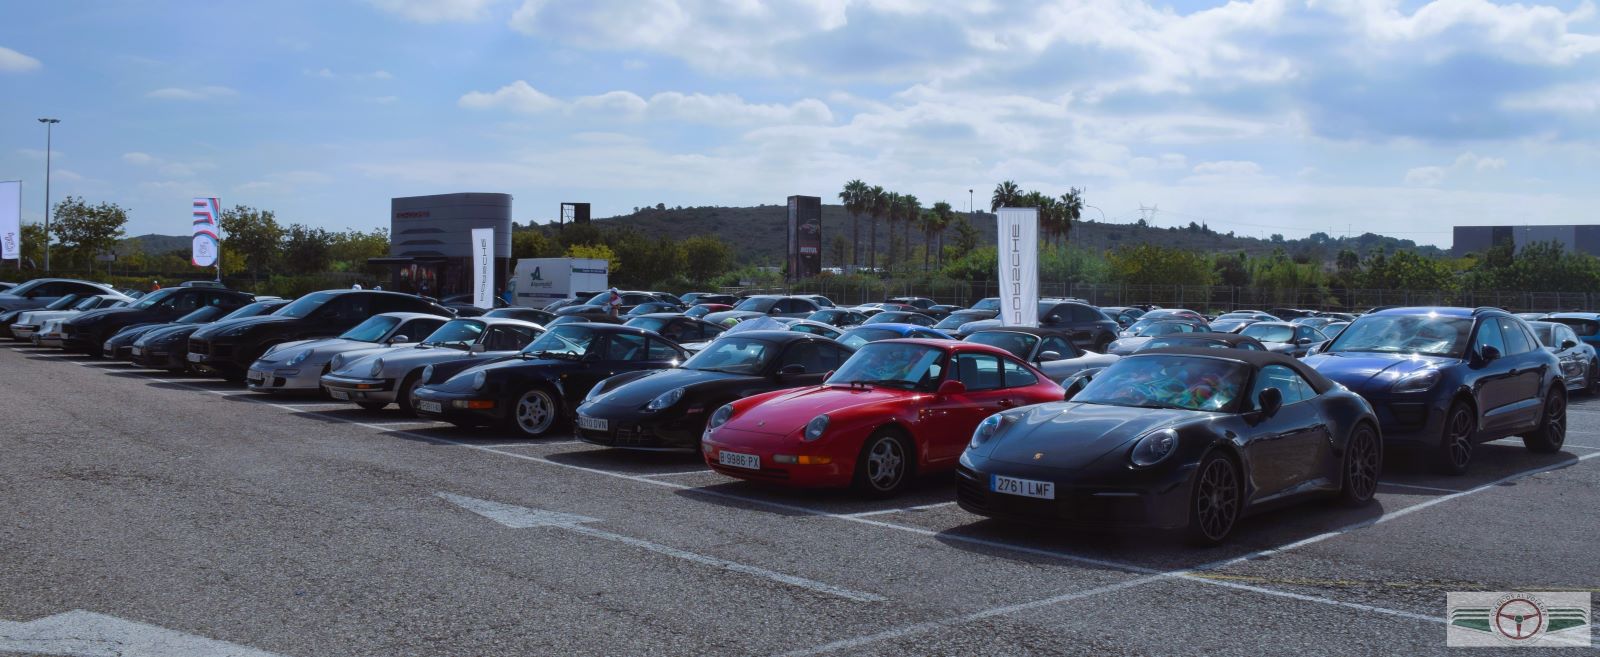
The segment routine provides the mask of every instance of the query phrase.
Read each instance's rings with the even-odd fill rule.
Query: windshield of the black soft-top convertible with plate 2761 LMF
[[[1227,411],[1248,382],[1250,368],[1237,361],[1165,353],[1131,356],[1106,368],[1072,401]]]

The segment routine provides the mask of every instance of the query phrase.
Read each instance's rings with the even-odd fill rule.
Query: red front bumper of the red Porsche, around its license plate
[[[830,440],[837,441],[837,438]],[[760,468],[741,468],[722,464],[722,452],[734,454],[754,454],[760,457]],[[832,454],[837,451],[838,454]],[[845,488],[850,486],[851,478],[856,472],[856,452],[861,451],[858,444],[854,449],[830,449],[830,452],[822,452],[816,446],[798,444],[797,441],[768,433],[746,433],[734,432],[730,428],[717,428],[707,432],[701,438],[701,456],[706,459],[706,465],[717,470],[722,475],[734,476],[749,481],[766,481],[782,486],[795,488]],[[848,452],[848,456],[845,454]],[[822,465],[802,465],[802,464],[779,464],[778,456],[808,456],[808,457],[827,457],[829,462]]]

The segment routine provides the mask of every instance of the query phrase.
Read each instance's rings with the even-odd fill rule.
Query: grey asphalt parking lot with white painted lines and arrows
[[[0,652],[1421,655],[1446,591],[1600,582],[1586,396],[1560,454],[1392,459],[1373,505],[1200,550],[986,521],[950,476],[864,500],[59,350],[0,371]],[[72,612],[102,623],[51,633]]]

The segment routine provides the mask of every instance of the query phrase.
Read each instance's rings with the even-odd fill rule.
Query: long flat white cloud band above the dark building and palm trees
[[[501,86],[493,93],[470,91],[461,96],[456,104],[474,110],[502,109],[520,113],[565,110],[581,117],[648,117],[712,125],[830,123],[834,120],[834,113],[827,109],[827,104],[813,98],[786,106],[746,102],[734,94],[664,91],[645,99],[632,91],[608,91],[595,96],[579,96],[568,102],[534,90],[523,80]]]

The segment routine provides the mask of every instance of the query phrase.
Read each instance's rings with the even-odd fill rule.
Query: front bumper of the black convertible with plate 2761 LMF
[[[1194,467],[1131,486],[1075,481],[1059,472],[1010,464],[1003,470],[1005,476],[1054,483],[1054,499],[994,492],[994,473],[963,464],[955,468],[955,504],[981,516],[1080,529],[1181,529],[1189,524]]]

